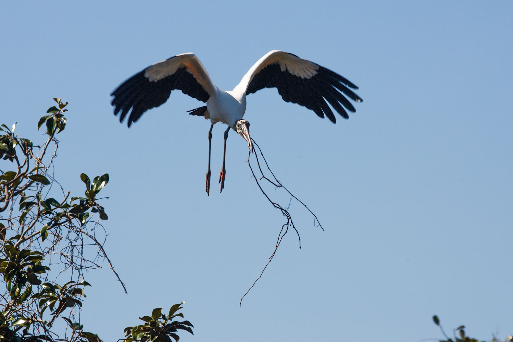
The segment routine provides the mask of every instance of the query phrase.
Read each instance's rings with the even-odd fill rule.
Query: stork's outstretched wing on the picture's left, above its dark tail
[[[167,101],[171,90],[207,102],[215,86],[207,70],[193,53],[184,53],[155,63],[128,78],[110,95],[114,115],[121,112],[120,122],[128,114],[128,127],[139,120],[148,109]]]

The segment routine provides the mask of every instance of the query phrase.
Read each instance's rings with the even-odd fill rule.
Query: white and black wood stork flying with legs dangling
[[[183,53],[136,73],[110,95],[113,96],[111,105],[114,106],[114,115],[121,113],[120,122],[123,122],[131,109],[128,127],[137,122],[148,109],[166,102],[171,91],[175,89],[206,102],[206,106],[192,109],[188,113],[204,116],[211,123],[208,131],[208,171],[205,186],[208,195],[211,174],[210,146],[215,123],[228,125],[224,133],[223,167],[219,174],[221,192],[226,176],[226,139],[230,128],[246,139],[249,152],[253,152],[249,123],[243,119],[246,95],[263,88],[277,88],[286,102],[305,106],[320,117],[326,115],[335,123],[336,118],[327,103],[347,119],[349,116],[344,107],[351,112],[356,110],[344,95],[357,103],[362,101],[348,87],[358,89],[346,78],[329,69],[294,54],[273,50],[260,58],[232,91],[223,91],[213,84],[207,70],[193,53]]]

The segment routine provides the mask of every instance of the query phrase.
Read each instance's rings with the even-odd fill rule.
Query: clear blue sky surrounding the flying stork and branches
[[[108,269],[84,329],[105,341],[155,307],[185,300],[185,341],[420,341],[461,324],[483,339],[513,333],[513,2],[2,2],[0,114],[37,137],[52,97],[70,103],[56,177],[110,174]],[[281,182],[318,215],[283,224],[230,134],[179,91],[128,129],[109,93],[151,63],[194,52],[231,90],[269,50],[332,69],[364,102],[337,124],[285,103],[247,98],[244,118]],[[34,139],[35,140],[35,139]],[[5,162],[0,162],[5,163]],[[268,189],[283,205],[289,198]],[[106,322],[115,329],[107,328]]]

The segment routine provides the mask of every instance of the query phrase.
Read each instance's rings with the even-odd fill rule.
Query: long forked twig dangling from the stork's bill
[[[267,265],[269,265],[269,263],[271,262],[271,260],[274,258],[274,255],[276,254],[276,251],[278,250],[278,247],[280,246],[280,244],[282,243],[282,239],[283,237],[285,236],[285,234],[287,234],[288,232],[288,229],[290,227],[292,227],[295,231],[295,233],[298,235],[298,239],[299,239],[299,248],[301,248],[301,236],[299,236],[299,232],[298,230],[295,228],[294,226],[294,222],[292,221],[292,216],[290,215],[290,213],[288,212],[288,209],[290,207],[290,204],[292,202],[292,198],[295,198],[299,203],[301,203],[312,215],[313,215],[313,225],[314,226],[319,226],[321,227],[322,230],[324,230],[324,228],[322,227],[321,223],[319,222],[319,219],[317,218],[317,215],[315,215],[311,210],[310,208],[308,208],[307,205],[305,205],[303,202],[301,202],[301,200],[294,196],[290,191],[287,190],[287,188],[285,188],[283,186],[283,184],[276,178],[276,176],[274,176],[274,173],[271,171],[271,169],[269,168],[269,164],[267,164],[267,160],[265,159],[264,157],[264,154],[262,153],[262,150],[260,149],[260,146],[258,146],[257,143],[255,143],[255,140],[251,139],[251,141],[253,142],[253,145],[256,146],[260,152],[260,155],[262,156],[262,158],[264,159],[264,162],[265,162],[265,166],[267,167],[267,170],[269,170],[269,172],[271,173],[272,177],[274,178],[274,182],[269,179],[268,177],[266,177],[264,175],[264,172],[262,171],[262,167],[260,166],[260,162],[259,162],[259,159],[258,159],[258,155],[257,155],[257,152],[255,151],[255,158],[257,158],[257,165],[258,165],[258,168],[260,170],[260,174],[262,175],[260,178],[257,178],[257,176],[255,175],[254,171],[253,171],[253,168],[251,167],[251,163],[249,161],[249,158],[251,156],[251,154],[248,153],[248,166],[249,166],[249,169],[251,170],[251,174],[253,175],[253,178],[255,179],[255,182],[257,182],[257,185],[258,187],[260,188],[260,191],[262,191],[262,193],[264,194],[264,196],[267,198],[267,200],[272,204],[272,206],[274,208],[277,208],[279,209],[283,216],[285,216],[287,218],[287,222],[285,224],[283,224],[282,228],[280,229],[280,233],[278,234],[278,239],[276,241],[276,245],[274,246],[274,251],[272,252],[271,256],[269,256],[269,260],[267,261],[267,264],[265,264],[264,266],[264,269],[262,270],[262,272],[260,273],[259,277],[257,279],[255,279],[255,281],[253,281],[253,284],[251,285],[251,287],[246,291],[246,293],[244,293],[244,295],[242,296],[241,298],[241,301],[239,302],[239,309],[241,308],[241,305],[242,305],[242,299],[244,299],[244,297],[248,294],[248,292],[253,288],[253,286],[257,283],[257,281],[262,277],[262,274],[264,274],[264,271],[265,269],[267,268]],[[277,188],[283,188],[285,189],[285,191],[288,192],[288,194],[291,196],[290,198],[290,202],[287,206],[287,209],[283,208],[281,205],[279,205],[278,203],[275,203],[273,202],[269,196],[265,193],[264,189],[262,189],[262,186],[260,185],[259,183],[259,179],[262,180],[262,179],[265,179],[267,180],[267,182],[269,182],[270,184],[274,185],[275,187]],[[285,230],[285,231],[284,231]],[[283,232],[283,234],[282,234]]]

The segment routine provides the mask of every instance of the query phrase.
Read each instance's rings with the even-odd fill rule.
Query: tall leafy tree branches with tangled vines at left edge
[[[82,307],[84,286],[90,286],[83,271],[99,267],[85,255],[84,239],[97,247],[94,255],[101,252],[106,257],[102,244],[86,226],[96,227],[108,218],[97,203],[97,194],[107,185],[109,175],[94,177],[91,182],[82,174],[84,197],[71,197],[68,202],[69,191],[63,191],[59,200],[49,196],[56,183],[49,173],[58,148],[55,135],[66,127],[64,108],[68,104],[60,98],[54,100],[57,105],[37,124],[38,129],[46,127],[47,139],[41,146],[18,137],[16,124],[11,129],[0,126],[0,157],[12,163],[9,170],[0,169],[0,274],[5,284],[5,292],[0,293],[0,341],[100,341],[97,335],[84,332],[74,317]],[[91,220],[94,213],[98,213],[97,222]],[[53,264],[62,264],[64,269],[49,280],[53,255],[59,259]],[[59,285],[59,275],[71,279]],[[57,317],[68,323],[68,338],[59,338],[51,330]]]

